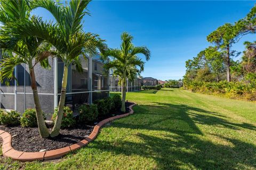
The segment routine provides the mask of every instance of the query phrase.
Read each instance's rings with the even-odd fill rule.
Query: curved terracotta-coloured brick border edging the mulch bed
[[[98,135],[100,128],[106,123],[111,122],[115,119],[119,119],[119,118],[133,114],[132,107],[135,105],[136,103],[133,103],[131,106],[129,106],[130,112],[128,112],[127,114],[117,115],[117,116],[102,120],[100,123],[94,126],[92,133],[88,137],[86,137],[84,140],[65,148],[54,149],[54,150],[49,150],[44,152],[17,151],[12,148],[12,145],[11,145],[12,136],[10,135],[10,133],[0,130],[0,137],[2,137],[3,139],[3,145],[2,145],[3,156],[5,158],[10,157],[14,160],[20,160],[20,161],[33,161],[33,160],[42,161],[42,160],[51,160],[51,159],[60,158],[66,155],[68,152],[81,148],[87,145],[89,142],[93,141]]]

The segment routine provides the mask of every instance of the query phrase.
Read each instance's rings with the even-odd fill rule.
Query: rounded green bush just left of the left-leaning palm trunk
[[[26,109],[20,118],[20,124],[23,127],[37,127],[36,110],[31,108]]]

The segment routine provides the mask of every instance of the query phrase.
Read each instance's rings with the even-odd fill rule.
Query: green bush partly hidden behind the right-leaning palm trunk
[[[52,115],[53,123],[55,123],[57,114],[58,114],[58,108],[55,108],[54,113]],[[63,109],[63,117],[62,117],[61,127],[62,128],[73,127],[75,124],[76,124],[76,120],[74,119],[73,111],[69,107],[65,106]]]

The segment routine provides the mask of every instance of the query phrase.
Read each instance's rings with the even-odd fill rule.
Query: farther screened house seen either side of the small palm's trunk
[[[111,71],[110,71],[111,72]],[[119,77],[109,75],[110,78],[110,92],[121,92],[122,86],[119,86]],[[141,78],[137,77],[135,80],[126,80],[126,92],[140,91],[141,90]]]

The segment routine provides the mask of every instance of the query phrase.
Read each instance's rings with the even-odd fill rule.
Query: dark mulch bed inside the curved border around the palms
[[[129,112],[129,106],[131,106],[131,102],[126,102],[126,112]],[[124,112],[116,112],[113,115],[101,117],[98,122],[108,117],[112,117],[115,115],[125,114]],[[95,123],[97,124],[97,123]],[[46,124],[51,131],[52,125]],[[60,135],[43,139],[40,137],[37,127],[21,127],[21,126],[3,126],[0,125],[0,129],[10,133],[12,137],[12,147],[18,151],[25,152],[38,152],[40,150],[45,149],[53,150],[59,149],[63,147],[67,147],[74,143],[77,143],[81,140],[84,140],[87,136],[89,136],[93,130],[95,125],[93,123],[88,125],[83,125],[79,127],[65,128],[60,130]],[[1,144],[1,143],[0,143]]]

